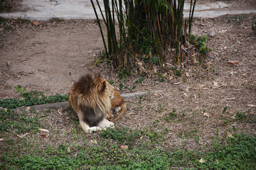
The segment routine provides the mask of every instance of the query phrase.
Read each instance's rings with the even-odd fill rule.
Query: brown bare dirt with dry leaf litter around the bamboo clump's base
[[[68,94],[70,85],[82,74],[100,72],[105,79],[114,81],[121,94],[130,91],[119,90],[119,84],[135,85],[133,91],[163,91],[127,100],[127,114],[118,125],[146,128],[164,120],[175,109],[174,122],[158,123],[169,129],[169,141],[175,144],[184,145],[182,136],[195,127],[202,142],[209,141],[216,128],[225,135],[234,126],[238,132],[255,134],[255,123],[232,121],[238,112],[248,116],[256,114],[253,17],[256,14],[196,18],[193,34],[208,35],[208,47],[212,48],[206,57],[208,64],[186,65],[182,77],[169,71],[164,82],[151,74],[144,77],[142,84],[136,84],[137,74],[124,80],[105,63],[95,66],[97,55],[103,51],[95,21],[40,21],[40,26],[32,26],[13,20],[9,26],[14,30],[0,26],[0,99],[20,97],[14,89],[17,85],[26,91],[43,91],[47,95]],[[228,60],[239,63],[230,65]],[[54,114],[58,117],[57,112]],[[186,145],[193,147],[195,142],[189,140]]]

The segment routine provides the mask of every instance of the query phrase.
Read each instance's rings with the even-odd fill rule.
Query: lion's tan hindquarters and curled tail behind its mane
[[[115,109],[115,108],[121,108],[121,112],[119,113],[119,115],[117,115],[116,118],[114,118],[113,120],[111,120],[113,123],[116,122],[117,120],[119,120],[119,118],[122,118],[122,116],[124,115],[124,113],[126,113],[127,111],[127,105],[124,102],[124,98],[122,98],[122,96],[117,92],[114,91],[114,98],[111,98],[111,109]],[[113,117],[113,115],[109,115],[109,117]]]

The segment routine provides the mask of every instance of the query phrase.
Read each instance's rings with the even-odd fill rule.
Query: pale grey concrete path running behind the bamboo
[[[103,6],[102,1],[100,1],[100,5]],[[185,17],[188,17],[189,7],[190,4],[185,4],[184,6]],[[215,18],[226,14],[256,13],[256,10],[228,11],[227,8],[228,4],[224,2],[200,4],[196,6],[194,16]],[[99,11],[98,8],[97,11]],[[0,16],[5,18],[21,17],[31,20],[48,20],[53,17],[95,19],[95,13],[90,0],[23,0],[19,12],[0,13]]]

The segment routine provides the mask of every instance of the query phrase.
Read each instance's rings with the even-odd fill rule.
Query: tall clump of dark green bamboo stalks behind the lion
[[[114,68],[131,72],[135,63],[143,60],[163,67],[169,49],[175,49],[172,62],[180,64],[181,45],[191,33],[196,0],[191,0],[188,21],[183,18],[185,0],[91,0],[100,27],[107,61]],[[107,28],[107,42],[95,3]],[[105,13],[103,12],[105,11]],[[118,23],[116,27],[116,24]],[[187,26],[188,25],[188,26]],[[116,30],[117,28],[117,30]],[[187,33],[188,29],[188,33]],[[117,34],[119,33],[119,34]]]

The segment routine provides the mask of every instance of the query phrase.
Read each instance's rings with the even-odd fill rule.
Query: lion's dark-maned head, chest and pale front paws
[[[114,123],[106,119],[106,115],[112,113],[113,96],[114,87],[102,79],[100,74],[86,74],[73,84],[68,100],[78,114],[80,126],[85,133],[114,128]]]

